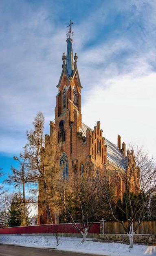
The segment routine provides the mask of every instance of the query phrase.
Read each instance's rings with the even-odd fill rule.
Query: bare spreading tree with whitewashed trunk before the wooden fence
[[[109,183],[111,181],[118,186],[121,192],[121,199],[123,200],[124,207],[117,206],[125,215],[127,225],[123,220],[116,218],[115,208],[116,200],[110,197],[108,187],[99,179],[99,186],[105,193],[108,204],[111,209],[114,220],[120,222],[129,236],[130,248],[133,247],[133,236],[138,229],[138,226],[144,220],[145,216],[149,213],[149,200],[152,193],[156,189],[156,163],[154,159],[148,157],[148,154],[143,151],[143,148],[127,151],[127,169],[126,172],[121,167],[117,171],[109,170]],[[121,182],[124,186],[124,191],[121,190]],[[120,185],[120,186],[119,186]],[[132,196],[132,195],[135,196]],[[112,207],[112,202],[115,207]],[[134,220],[137,221],[134,227]]]

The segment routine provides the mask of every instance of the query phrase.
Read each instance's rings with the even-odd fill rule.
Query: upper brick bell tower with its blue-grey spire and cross
[[[69,132],[67,132],[69,126],[74,122],[74,112],[77,112],[77,132],[81,127],[81,82],[79,79],[79,73],[77,70],[77,54],[73,56],[71,36],[74,35],[71,26],[73,22],[70,20],[67,31],[67,54],[62,56],[62,73],[57,85],[58,94],[56,96],[56,108],[55,108],[55,131],[58,130],[62,136],[62,131],[66,130],[66,136],[69,139]],[[63,139],[65,142],[66,139]]]

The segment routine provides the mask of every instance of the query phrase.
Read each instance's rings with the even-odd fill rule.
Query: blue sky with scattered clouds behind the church
[[[66,31],[74,22],[73,54],[82,121],[117,144],[143,145],[156,157],[156,1],[0,1],[0,167],[19,167],[26,130],[38,111],[45,134],[54,109]],[[3,180],[3,179],[1,179]],[[7,185],[5,185],[7,186]]]

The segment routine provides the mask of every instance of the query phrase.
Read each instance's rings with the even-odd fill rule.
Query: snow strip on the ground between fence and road
[[[103,240],[87,238],[84,243],[82,238],[58,237],[57,246],[55,236],[34,236],[34,235],[0,235],[0,243],[21,245],[29,247],[47,247],[59,250],[88,253],[90,255],[107,256],[156,256],[156,246],[134,245],[132,249],[123,243],[104,242]]]

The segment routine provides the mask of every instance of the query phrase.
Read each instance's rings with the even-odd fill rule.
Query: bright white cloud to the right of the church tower
[[[118,134],[126,144],[145,145],[155,157],[156,73],[131,78],[116,77],[108,89],[100,85],[89,92],[82,106],[83,122],[94,128],[101,122],[103,137],[117,144]]]

